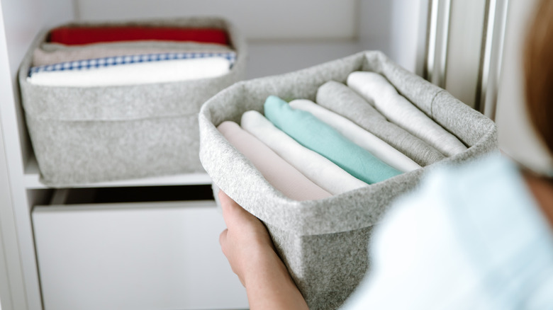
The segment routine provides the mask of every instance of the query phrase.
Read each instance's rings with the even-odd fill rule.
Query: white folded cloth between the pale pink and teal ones
[[[337,195],[367,186],[332,161],[303,147],[257,111],[245,112],[240,125],[328,193]]]

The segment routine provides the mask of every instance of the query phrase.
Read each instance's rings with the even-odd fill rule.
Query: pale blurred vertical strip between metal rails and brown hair
[[[510,0],[496,122],[499,147],[506,154],[537,171],[547,171],[553,167],[552,159],[532,129],[523,93],[523,39],[536,3],[536,0]]]

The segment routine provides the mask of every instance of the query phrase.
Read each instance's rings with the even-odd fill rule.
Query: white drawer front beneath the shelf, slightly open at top
[[[45,309],[246,309],[215,202],[33,209]]]

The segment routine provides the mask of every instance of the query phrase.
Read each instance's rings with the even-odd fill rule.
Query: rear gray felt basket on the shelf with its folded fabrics
[[[72,23],[40,33],[19,70],[51,187],[203,173],[201,104],[243,79],[245,41],[221,18]]]

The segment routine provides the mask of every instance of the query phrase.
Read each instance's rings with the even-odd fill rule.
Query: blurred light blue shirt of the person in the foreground
[[[440,168],[376,229],[342,309],[553,309],[553,239],[518,168]]]

